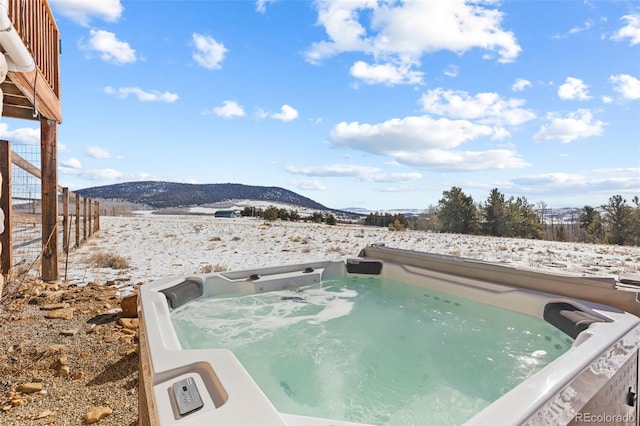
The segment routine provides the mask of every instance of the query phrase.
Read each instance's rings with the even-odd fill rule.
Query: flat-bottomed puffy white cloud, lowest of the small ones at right
[[[607,124],[600,120],[594,120],[591,111],[579,109],[561,117],[555,113],[547,114],[548,125],[542,126],[540,131],[533,136],[535,141],[559,141],[570,143],[576,139],[584,139],[592,136],[600,136]]]

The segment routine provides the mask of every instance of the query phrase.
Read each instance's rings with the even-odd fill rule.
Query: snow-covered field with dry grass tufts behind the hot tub
[[[640,247],[149,212],[103,216],[100,225],[100,232],[73,251],[66,266],[61,265],[61,276],[66,276],[69,283],[118,280],[126,286],[212,270],[339,259],[356,256],[374,243],[521,269],[640,279]],[[129,267],[116,270],[92,266],[89,258],[95,253],[122,256]]]

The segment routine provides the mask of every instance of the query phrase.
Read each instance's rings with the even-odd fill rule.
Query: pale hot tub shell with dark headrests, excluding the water
[[[469,259],[370,246],[357,257],[192,277],[140,288],[140,424],[347,425],[280,413],[234,354],[185,350],[172,309],[200,297],[316,285],[348,274],[376,274],[518,311],[575,338],[572,347],[465,424],[638,424],[640,304],[614,280],[551,275]],[[201,406],[180,414],[175,383],[190,380]],[[187,397],[187,399],[189,399]]]

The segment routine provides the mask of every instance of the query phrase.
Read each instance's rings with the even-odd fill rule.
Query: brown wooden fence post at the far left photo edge
[[[0,273],[8,275],[13,265],[13,242],[11,241],[11,144],[0,140],[0,209],[4,213],[3,230],[0,232]],[[1,280],[0,280],[1,283]],[[0,294],[2,285],[0,284]]]

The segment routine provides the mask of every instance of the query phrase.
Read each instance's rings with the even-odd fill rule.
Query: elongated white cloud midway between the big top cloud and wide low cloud
[[[503,99],[493,92],[470,95],[464,91],[443,89],[429,90],[420,98],[422,108],[431,114],[452,118],[479,120],[484,124],[517,126],[533,120],[536,115],[522,108],[522,99]]]

